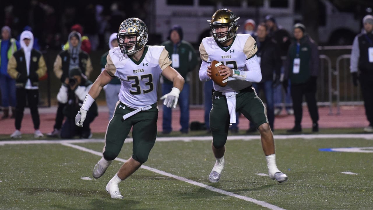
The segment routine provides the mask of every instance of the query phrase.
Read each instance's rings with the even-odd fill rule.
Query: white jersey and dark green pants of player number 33
[[[132,127],[132,157],[140,163],[147,161],[157,136],[159,78],[170,64],[164,46],[145,46],[139,61],[124,55],[119,47],[109,50],[106,70],[120,79],[121,87],[105,135],[103,156],[106,160],[117,157]]]

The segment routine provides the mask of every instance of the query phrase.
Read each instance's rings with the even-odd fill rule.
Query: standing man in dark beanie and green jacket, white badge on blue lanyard
[[[316,80],[319,75],[317,44],[305,33],[305,26],[293,27],[295,41],[290,45],[285,66],[285,78],[290,79],[295,125],[288,132],[301,132],[303,96],[312,119],[312,132],[319,131],[319,111],[316,104]]]

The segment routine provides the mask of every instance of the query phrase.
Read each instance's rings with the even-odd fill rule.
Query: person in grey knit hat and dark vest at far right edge
[[[365,114],[369,125],[365,132],[373,132],[373,16],[363,18],[364,30],[352,43],[350,72],[355,87],[360,84]]]

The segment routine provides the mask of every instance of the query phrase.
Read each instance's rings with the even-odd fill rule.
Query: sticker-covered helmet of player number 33
[[[126,55],[133,55],[144,48],[148,42],[148,28],[144,21],[138,18],[125,19],[119,26],[117,40],[120,51]],[[133,40],[124,43],[125,36],[132,36]]]

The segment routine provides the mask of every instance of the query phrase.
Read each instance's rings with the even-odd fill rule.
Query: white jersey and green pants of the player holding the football
[[[214,83],[210,129],[214,147],[222,148],[228,136],[229,123],[235,123],[236,111],[253,121],[257,127],[268,123],[266,108],[251,87],[253,82],[258,83],[261,80],[260,64],[256,56],[257,46],[251,35],[237,34],[228,47],[223,47],[213,37],[206,37],[202,40],[199,50],[202,59],[199,71],[201,81],[210,80],[206,70],[213,60],[245,75],[244,80],[229,77],[225,87]]]

